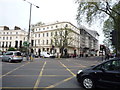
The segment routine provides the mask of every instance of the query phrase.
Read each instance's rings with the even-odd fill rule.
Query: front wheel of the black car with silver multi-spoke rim
[[[82,85],[87,90],[92,90],[92,89],[95,88],[93,80],[91,78],[89,78],[89,77],[83,78]]]

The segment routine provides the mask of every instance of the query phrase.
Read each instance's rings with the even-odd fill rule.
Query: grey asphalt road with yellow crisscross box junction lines
[[[101,58],[37,58],[33,62],[2,62],[2,89],[84,90],[76,80],[79,69],[101,62]]]

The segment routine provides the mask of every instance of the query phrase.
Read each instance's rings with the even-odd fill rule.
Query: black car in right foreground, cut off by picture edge
[[[96,87],[120,90],[120,59],[114,58],[79,70],[76,78],[80,85],[87,90]]]

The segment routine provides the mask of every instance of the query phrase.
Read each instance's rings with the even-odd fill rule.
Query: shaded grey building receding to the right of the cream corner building
[[[83,56],[95,56],[99,50],[99,34],[97,31],[89,30],[85,27],[80,28],[80,53]]]

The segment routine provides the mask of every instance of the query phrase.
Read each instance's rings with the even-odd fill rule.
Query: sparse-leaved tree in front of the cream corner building
[[[55,47],[59,48],[61,57],[68,55],[67,48],[74,41],[72,33],[73,31],[66,27],[55,31],[52,42]]]

